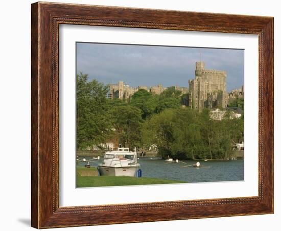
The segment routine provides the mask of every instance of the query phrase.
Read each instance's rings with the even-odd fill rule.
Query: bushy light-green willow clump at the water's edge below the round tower
[[[211,120],[208,109],[165,109],[145,121],[142,143],[145,147],[155,144],[164,158],[226,159],[233,142],[243,140],[243,125],[242,118]]]

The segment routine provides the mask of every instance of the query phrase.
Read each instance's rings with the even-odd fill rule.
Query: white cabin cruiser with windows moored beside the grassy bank
[[[135,150],[131,152],[129,148],[118,148],[105,153],[98,171],[101,176],[136,176],[139,167]]]

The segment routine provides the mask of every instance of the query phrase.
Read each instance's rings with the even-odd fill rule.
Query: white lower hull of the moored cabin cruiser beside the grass
[[[135,176],[139,167],[106,167],[99,166],[98,171],[101,176]]]

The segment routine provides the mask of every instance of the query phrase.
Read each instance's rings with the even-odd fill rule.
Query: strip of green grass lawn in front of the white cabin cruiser
[[[148,177],[131,176],[79,176],[77,175],[76,187],[104,187],[104,186],[135,186],[142,184],[186,183],[180,180],[166,180]]]

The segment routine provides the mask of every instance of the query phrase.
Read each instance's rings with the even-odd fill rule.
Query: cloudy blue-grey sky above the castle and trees
[[[243,50],[76,43],[76,72],[105,84],[123,80],[131,87],[189,87],[189,80],[195,78],[195,62],[200,60],[205,69],[227,72],[228,92],[243,85]]]

